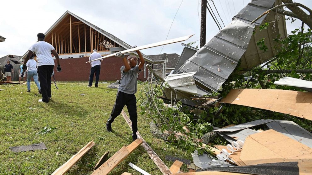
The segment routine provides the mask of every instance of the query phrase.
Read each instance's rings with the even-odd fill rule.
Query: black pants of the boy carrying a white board
[[[137,131],[137,114],[136,114],[136,96],[134,94],[127,94],[117,91],[116,101],[110,114],[107,123],[112,124],[114,119],[121,113],[124,106],[127,105],[127,109],[132,122],[132,132],[136,134]]]

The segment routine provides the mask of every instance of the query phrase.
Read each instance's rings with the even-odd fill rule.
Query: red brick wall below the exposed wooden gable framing
[[[54,66],[56,81],[88,81],[90,75],[90,63],[86,63],[89,57],[84,58],[69,58],[60,59],[60,65],[62,72],[56,71]],[[57,65],[56,60],[54,60]],[[148,64],[148,62],[146,62]],[[100,81],[116,81],[119,80],[120,67],[123,66],[123,62],[120,58],[109,57],[103,59],[101,63]],[[146,78],[144,78],[143,70],[138,76],[138,80],[145,81],[148,77],[148,69],[146,68]],[[94,75],[95,81],[95,75]]]

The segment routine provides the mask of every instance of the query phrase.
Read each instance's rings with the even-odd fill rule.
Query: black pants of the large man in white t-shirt
[[[54,65],[38,66],[38,77],[43,102],[49,102],[49,97],[51,97],[51,75],[53,69]]]

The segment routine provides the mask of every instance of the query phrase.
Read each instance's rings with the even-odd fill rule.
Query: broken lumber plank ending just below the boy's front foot
[[[106,175],[117,165],[125,160],[127,156],[131,154],[137,147],[142,144],[142,140],[136,139],[128,146],[123,146],[113,156],[111,156],[106,162],[97,168],[91,175]]]

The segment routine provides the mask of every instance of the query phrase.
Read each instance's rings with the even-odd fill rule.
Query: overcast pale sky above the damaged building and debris
[[[210,0],[208,0],[210,1]],[[224,24],[230,23],[250,0],[214,0]],[[102,1],[2,1],[0,11],[0,57],[8,54],[22,56],[36,42],[37,33],[45,33],[66,10],[115,35],[129,45],[146,45],[166,39],[172,20],[182,0],[102,0]],[[295,0],[312,8],[311,0]],[[198,4],[199,3],[199,4]],[[211,3],[211,2],[210,2]],[[195,34],[184,43],[200,37],[200,0],[183,0],[172,24],[168,39]],[[290,24],[287,32],[299,27],[299,20]],[[219,29],[207,11],[209,41]],[[142,50],[146,55],[160,54],[162,47]],[[180,43],[165,45],[161,53],[181,54]]]

